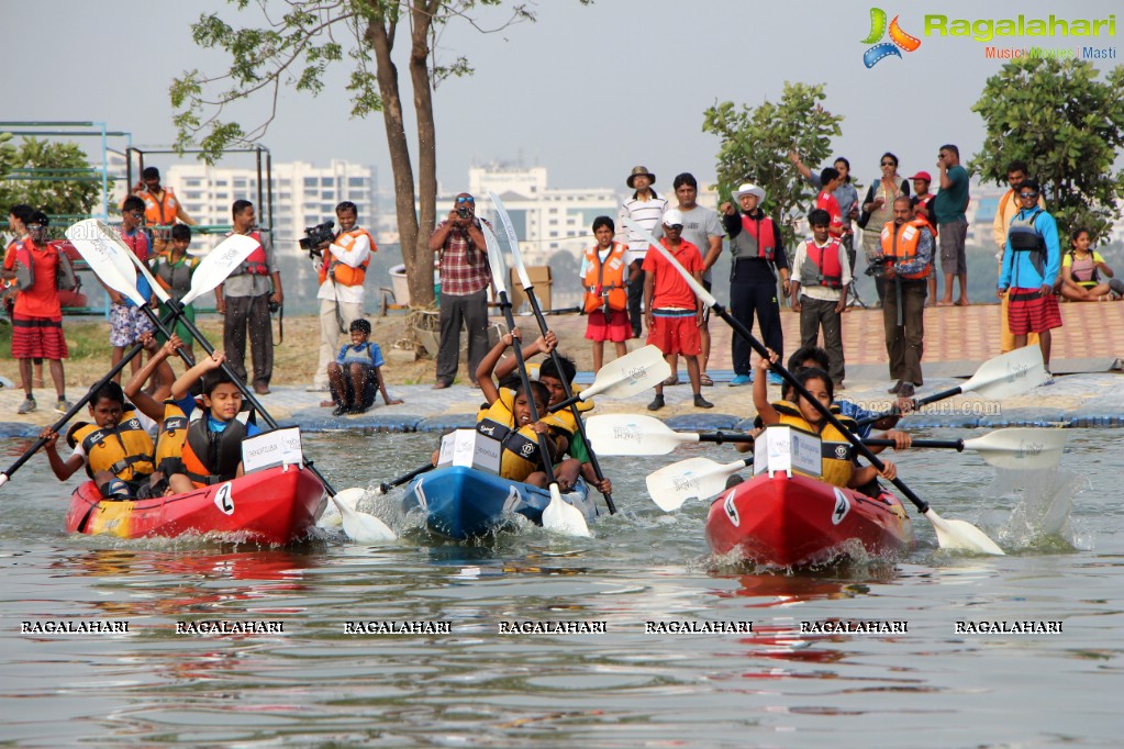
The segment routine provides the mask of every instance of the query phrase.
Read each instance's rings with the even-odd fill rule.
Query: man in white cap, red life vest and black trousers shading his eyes
[[[729,312],[746,329],[753,329],[753,317],[756,313],[761,337],[768,348],[783,350],[785,336],[780,327],[780,304],[777,301],[776,268],[780,274],[781,290],[787,296],[788,259],[785,256],[785,245],[780,228],[761,210],[765,200],[763,188],[746,182],[734,192],[734,200],[741,205],[741,211],[732,203],[724,202],[719,210],[722,222],[729,237],[729,248],[734,254],[729,268]],[[729,385],[747,385],[753,382],[750,367],[750,344],[734,336],[731,342],[734,359],[734,378]],[[780,377],[769,373],[770,382],[780,384]]]

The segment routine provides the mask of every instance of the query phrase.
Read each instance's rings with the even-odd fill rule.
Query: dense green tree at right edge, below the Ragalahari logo
[[[1045,189],[1046,207],[1063,235],[1084,226],[1095,237],[1107,236],[1124,198],[1124,170],[1113,165],[1124,147],[1122,90],[1124,66],[1098,81],[1086,61],[1007,63],[972,107],[984,118],[987,139],[971,170],[1004,184],[1007,164],[1024,161]]]

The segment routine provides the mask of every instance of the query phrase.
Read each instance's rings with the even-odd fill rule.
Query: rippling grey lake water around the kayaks
[[[406,528],[396,546],[325,531],[285,550],[65,536],[69,488],[37,457],[0,490],[0,742],[1118,747],[1120,439],[1071,430],[1061,468],[1033,475],[971,454],[901,456],[901,477],[934,510],[985,528],[1009,556],[943,552],[915,513],[907,557],[800,574],[717,564],[705,503],[665,515],[644,492],[646,473],[698,455],[732,460],[729,448],[604,459],[622,512],[598,520],[593,539],[526,529],[456,546]],[[307,437],[306,449],[342,488],[405,473],[434,442],[332,433]],[[2,463],[24,447],[9,440]],[[62,619],[125,620],[128,632],[20,631]],[[176,622],[216,619],[280,621],[283,633],[175,633]],[[800,633],[824,619],[908,627]],[[451,631],[344,631],[383,620]],[[606,632],[499,632],[555,620]],[[752,621],[753,631],[645,633],[646,621]],[[958,621],[1062,631],[957,633]]]

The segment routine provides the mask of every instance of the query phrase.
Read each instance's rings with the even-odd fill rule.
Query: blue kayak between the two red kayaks
[[[562,500],[581,510],[586,522],[597,517],[589,486],[581,479]],[[542,526],[543,510],[550,503],[549,490],[462,466],[418,476],[402,497],[407,512],[425,513],[429,530],[459,541],[502,530],[511,524],[515,514]]]

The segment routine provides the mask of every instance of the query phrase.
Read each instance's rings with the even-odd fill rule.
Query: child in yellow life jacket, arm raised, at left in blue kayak
[[[532,382],[529,393],[524,391],[522,381],[515,390],[496,386],[492,380],[496,364],[518,338],[518,329],[505,335],[477,367],[480,390],[488,400],[488,408],[477,417],[477,431],[499,440],[502,446],[500,476],[545,487],[546,473],[543,471],[538,436],[545,438],[543,441],[550,451],[546,459],[553,466],[570,446],[569,431],[558,415],[547,411],[551,395],[542,383]],[[534,422],[531,419],[532,400],[538,414],[538,421]]]

